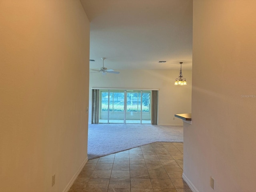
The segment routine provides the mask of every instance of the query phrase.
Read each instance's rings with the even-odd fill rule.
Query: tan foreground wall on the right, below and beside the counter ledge
[[[194,0],[192,125],[184,175],[199,192],[254,192],[256,1]],[[252,95],[252,97],[242,97]]]

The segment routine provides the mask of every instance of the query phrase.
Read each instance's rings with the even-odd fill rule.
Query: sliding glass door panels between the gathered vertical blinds
[[[151,91],[100,90],[99,123],[151,123]]]

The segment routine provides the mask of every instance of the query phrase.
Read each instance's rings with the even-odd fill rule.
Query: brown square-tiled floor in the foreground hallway
[[[155,142],[89,160],[68,192],[192,192],[183,143]]]

